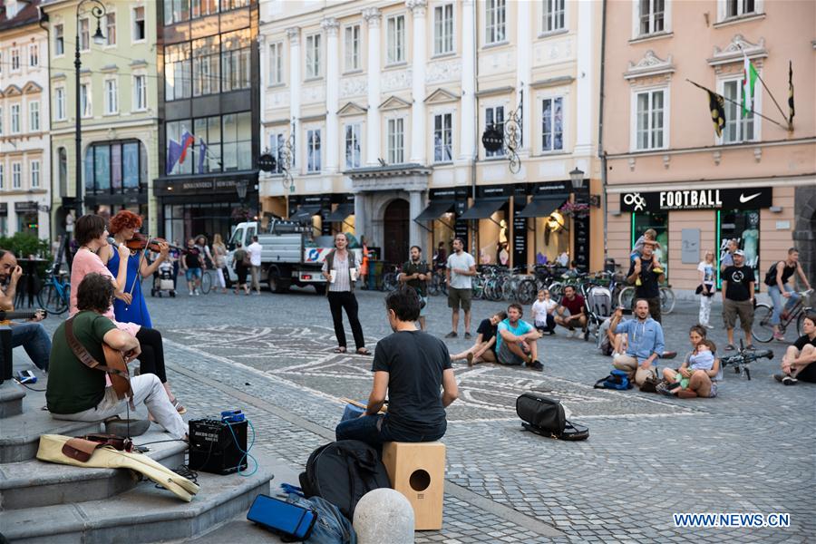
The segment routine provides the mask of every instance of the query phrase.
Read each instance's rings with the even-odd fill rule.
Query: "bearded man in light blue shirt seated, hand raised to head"
[[[616,334],[626,333],[627,352],[617,355],[614,366],[629,373],[637,385],[644,383],[648,376],[656,376],[652,364],[664,352],[663,327],[649,317],[649,303],[640,298],[635,303],[635,319],[620,323],[623,308],[617,308],[612,316],[610,328]]]

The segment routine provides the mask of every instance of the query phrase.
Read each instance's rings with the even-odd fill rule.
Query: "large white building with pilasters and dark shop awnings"
[[[272,0],[260,10],[261,149],[294,157],[291,180],[261,174],[265,211],[364,235],[390,262],[409,244],[430,259],[428,248],[462,236],[481,262],[507,244],[516,266],[565,252],[602,266],[600,209],[558,210],[601,200],[600,2]],[[517,173],[481,141],[513,113]],[[570,185],[575,169],[582,189]]]

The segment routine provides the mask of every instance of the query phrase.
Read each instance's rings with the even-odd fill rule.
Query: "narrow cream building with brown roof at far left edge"
[[[0,7],[0,237],[50,237],[48,39],[38,2]]]

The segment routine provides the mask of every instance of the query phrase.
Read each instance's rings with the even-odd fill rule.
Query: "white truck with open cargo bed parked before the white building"
[[[261,250],[261,283],[266,283],[275,293],[285,293],[289,287],[314,286],[318,294],[325,292],[325,278],[320,273],[325,256],[334,248],[331,236],[313,236],[314,229],[309,224],[296,221],[270,219],[266,230],[257,221],[238,223],[229,238],[227,264],[229,279],[238,280],[232,263],[236,242],[244,248],[252,243],[257,234]],[[361,248],[349,249],[355,253],[356,262],[363,258]]]

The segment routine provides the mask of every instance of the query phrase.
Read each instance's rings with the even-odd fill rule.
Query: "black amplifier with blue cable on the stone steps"
[[[232,432],[229,431],[230,428]],[[191,470],[213,474],[246,471],[248,461],[241,452],[242,450],[247,451],[246,421],[225,423],[217,420],[193,420],[189,422],[188,466]]]

